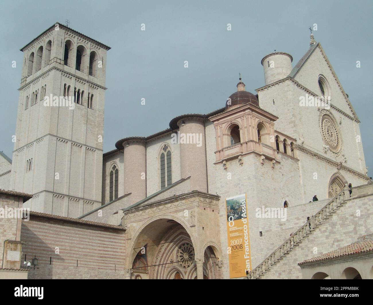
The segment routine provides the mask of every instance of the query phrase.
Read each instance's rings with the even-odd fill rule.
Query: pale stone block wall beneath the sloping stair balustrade
[[[338,211],[329,216],[329,219],[305,237],[261,278],[301,279],[298,263],[347,246],[356,242],[358,237],[373,233],[372,186],[360,188],[364,191],[355,189],[355,197],[348,198]]]

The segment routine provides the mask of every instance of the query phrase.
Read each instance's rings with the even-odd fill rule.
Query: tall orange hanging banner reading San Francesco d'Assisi
[[[244,277],[251,271],[251,250],[246,194],[226,198],[229,277]]]

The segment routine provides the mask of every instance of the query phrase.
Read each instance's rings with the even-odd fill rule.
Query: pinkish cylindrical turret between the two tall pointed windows
[[[124,193],[136,203],[146,197],[146,143],[141,137],[128,138],[124,147]]]

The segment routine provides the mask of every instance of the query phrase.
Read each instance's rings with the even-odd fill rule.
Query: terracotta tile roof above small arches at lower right
[[[363,241],[363,242],[355,242],[353,244],[350,244],[348,246],[338,248],[336,250],[324,253],[322,255],[310,258],[308,260],[305,260],[298,265],[303,265],[306,263],[315,263],[317,261],[325,261],[325,260],[331,260],[333,258],[338,258],[338,257],[344,257],[348,255],[355,255],[355,254],[361,254],[361,253],[366,253],[366,252],[371,252],[373,251],[373,241],[368,240],[368,241]]]

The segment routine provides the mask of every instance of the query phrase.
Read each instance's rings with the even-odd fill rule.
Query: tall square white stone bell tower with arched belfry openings
[[[78,217],[101,205],[106,53],[55,23],[24,53],[10,188],[25,207]]]

